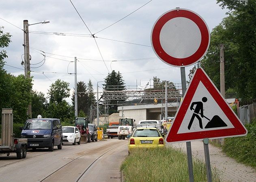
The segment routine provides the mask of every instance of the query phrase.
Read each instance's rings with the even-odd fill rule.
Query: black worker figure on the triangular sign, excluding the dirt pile
[[[206,97],[203,97],[202,98],[202,101],[205,103],[207,101],[207,98]],[[196,108],[194,109],[194,105],[196,105]],[[202,102],[193,102],[191,103],[191,106],[190,106],[190,110],[194,110],[194,113],[189,121],[189,125],[187,126],[187,128],[190,130],[191,128],[191,125],[195,119],[195,117],[198,119],[199,121],[199,127],[201,129],[203,129],[203,125],[202,125],[202,118],[204,117],[204,109],[203,109],[203,103]],[[201,115],[201,117],[199,116],[199,114]]]

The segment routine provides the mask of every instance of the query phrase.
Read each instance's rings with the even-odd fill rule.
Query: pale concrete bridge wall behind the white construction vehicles
[[[131,117],[135,119],[136,123],[140,120],[145,120],[146,118],[146,109],[136,109],[136,110],[123,110],[124,117]],[[119,116],[122,117],[122,111],[119,112]]]

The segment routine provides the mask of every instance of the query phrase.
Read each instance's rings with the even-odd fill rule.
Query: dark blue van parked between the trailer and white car
[[[23,127],[21,138],[28,138],[28,148],[62,149],[62,126],[60,119],[28,119]]]

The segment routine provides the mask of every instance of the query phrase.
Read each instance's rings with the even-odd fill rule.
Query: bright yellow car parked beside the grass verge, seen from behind
[[[134,148],[163,147],[164,139],[157,128],[137,128],[129,139],[128,151]]]

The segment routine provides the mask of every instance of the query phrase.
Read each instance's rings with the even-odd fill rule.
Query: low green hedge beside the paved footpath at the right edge
[[[256,118],[245,128],[248,130],[246,136],[225,138],[222,149],[229,157],[256,167]]]

